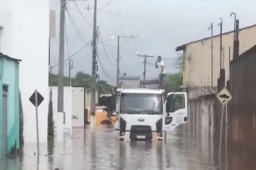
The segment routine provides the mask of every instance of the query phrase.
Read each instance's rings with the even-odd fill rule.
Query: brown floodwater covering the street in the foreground
[[[27,143],[19,157],[2,161],[1,170],[256,169],[255,156],[234,151],[219,164],[213,143],[192,134],[183,126],[168,133],[166,141],[124,142],[115,140],[113,127],[102,125],[64,135],[63,142],[41,144],[39,159],[36,144]]]

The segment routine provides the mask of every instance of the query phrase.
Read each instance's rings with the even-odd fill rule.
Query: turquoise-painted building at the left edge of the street
[[[19,62],[0,53],[0,157],[19,149]]]

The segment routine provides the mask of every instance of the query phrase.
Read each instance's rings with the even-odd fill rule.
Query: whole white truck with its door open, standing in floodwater
[[[119,140],[163,140],[167,131],[187,122],[186,92],[166,94],[149,88],[119,88],[116,92]]]

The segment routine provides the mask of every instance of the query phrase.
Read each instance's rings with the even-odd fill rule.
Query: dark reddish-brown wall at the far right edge
[[[242,45],[242,44],[241,44]],[[230,149],[256,152],[256,45],[230,63],[228,142]]]

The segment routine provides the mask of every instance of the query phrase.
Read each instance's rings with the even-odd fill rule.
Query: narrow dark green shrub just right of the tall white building
[[[50,91],[50,101],[48,107],[48,129],[47,129],[47,139],[54,139],[54,121],[53,121],[53,101],[52,101],[52,89]]]

